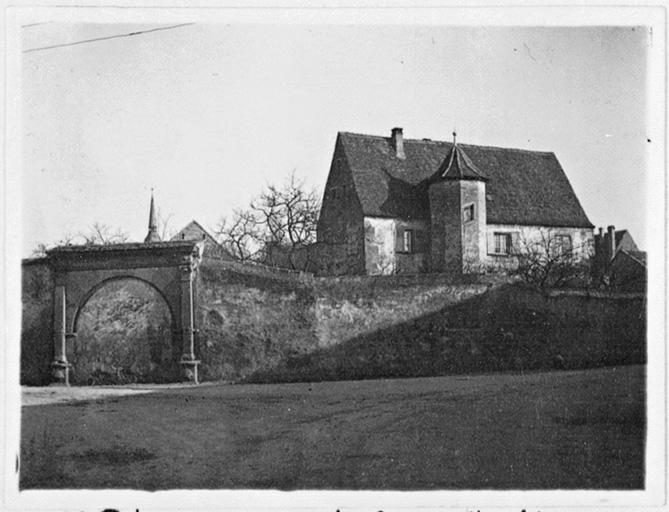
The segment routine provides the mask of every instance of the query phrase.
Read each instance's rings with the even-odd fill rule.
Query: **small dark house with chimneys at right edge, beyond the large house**
[[[595,280],[618,291],[645,292],[648,264],[626,229],[608,226],[595,235]]]

